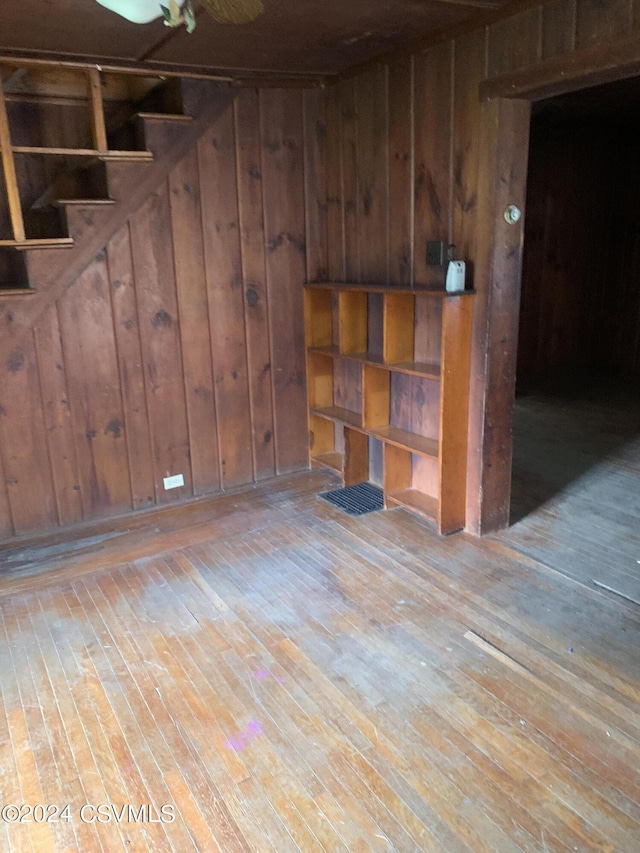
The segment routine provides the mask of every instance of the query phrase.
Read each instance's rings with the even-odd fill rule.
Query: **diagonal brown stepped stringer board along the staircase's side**
[[[0,292],[3,302],[0,362],[20,358],[22,342],[42,314],[63,296],[129,217],[166,180],[237,94],[237,89],[227,83],[189,80],[183,81],[183,86],[185,110],[193,116],[193,121],[172,128],[166,134],[158,132],[158,128],[151,139],[155,155],[152,162],[107,164],[112,172],[110,191],[112,184],[115,204],[95,212],[93,226],[82,230],[73,247],[26,250],[30,292],[25,292],[24,296],[14,293],[6,300]]]

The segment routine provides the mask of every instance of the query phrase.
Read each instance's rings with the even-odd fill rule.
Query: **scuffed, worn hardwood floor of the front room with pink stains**
[[[0,553],[0,849],[640,849],[638,607],[336,483]]]

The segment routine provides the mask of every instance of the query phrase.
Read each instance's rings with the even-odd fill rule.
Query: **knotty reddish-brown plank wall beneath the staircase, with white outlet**
[[[321,92],[242,90],[39,318],[0,370],[3,537],[307,466],[323,146]]]

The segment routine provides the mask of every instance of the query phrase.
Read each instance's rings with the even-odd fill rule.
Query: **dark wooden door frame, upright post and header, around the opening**
[[[524,213],[531,103],[640,74],[640,45],[632,56],[614,46],[594,58],[585,51],[534,71],[480,87],[480,165],[471,349],[467,530],[482,535],[509,525],[513,458],[520,276],[524,216],[509,224],[508,205]]]

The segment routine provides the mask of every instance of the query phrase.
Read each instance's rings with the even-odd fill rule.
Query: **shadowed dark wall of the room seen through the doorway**
[[[640,372],[640,144],[601,119],[532,124],[518,371]]]

